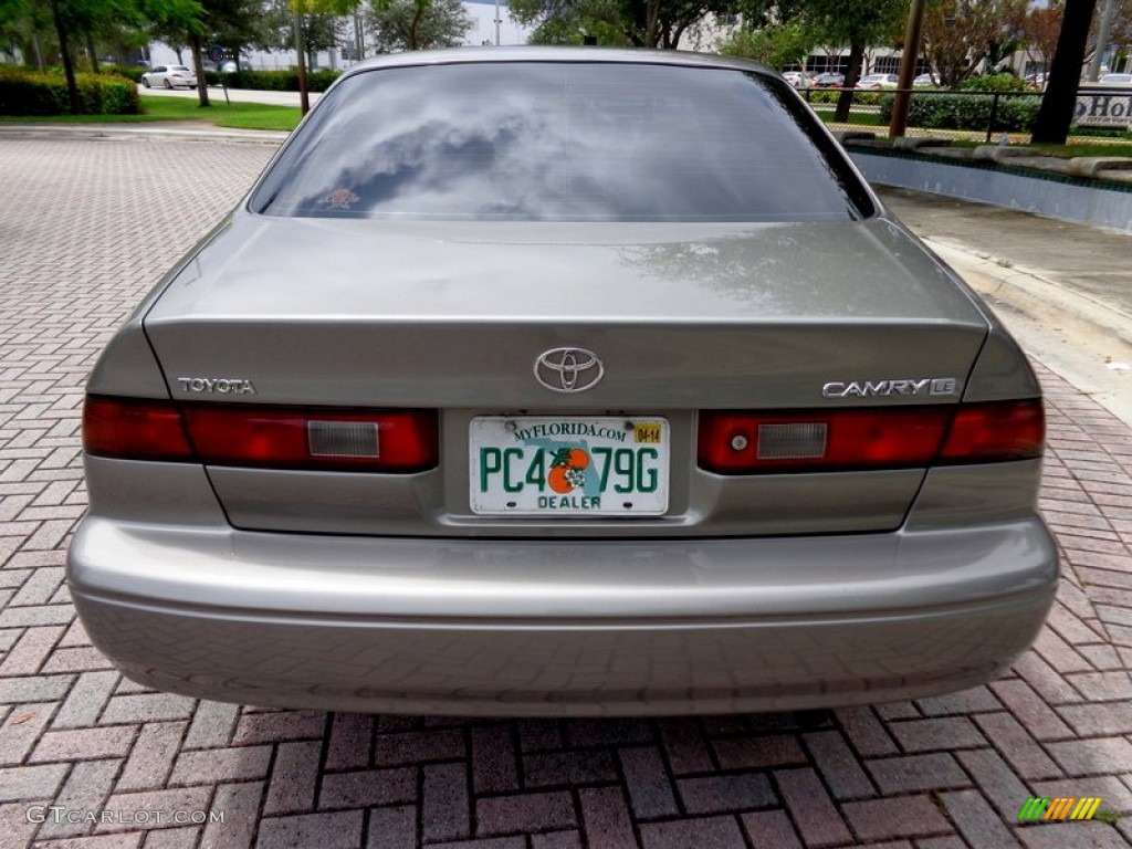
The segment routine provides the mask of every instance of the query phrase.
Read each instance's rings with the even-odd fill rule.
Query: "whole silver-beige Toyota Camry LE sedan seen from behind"
[[[72,598],[174,693],[884,702],[990,679],[1054,597],[1026,358],[740,61],[350,69],[87,393]]]

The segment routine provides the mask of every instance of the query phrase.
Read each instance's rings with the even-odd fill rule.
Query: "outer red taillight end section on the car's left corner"
[[[88,397],[83,406],[83,448],[122,460],[192,460],[181,414],[171,401]]]

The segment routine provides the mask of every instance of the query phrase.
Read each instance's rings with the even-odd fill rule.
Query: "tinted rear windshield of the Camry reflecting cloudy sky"
[[[264,178],[268,215],[844,221],[872,213],[789,86],[615,62],[400,67],[344,79]]]

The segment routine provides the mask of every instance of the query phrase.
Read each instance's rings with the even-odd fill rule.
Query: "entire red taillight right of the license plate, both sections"
[[[719,474],[907,469],[1041,455],[1040,401],[700,414],[700,466]]]

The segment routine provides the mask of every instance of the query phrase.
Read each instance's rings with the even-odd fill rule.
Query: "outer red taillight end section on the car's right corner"
[[[955,420],[941,457],[947,463],[1041,456],[1046,414],[1040,400],[968,404]]]

